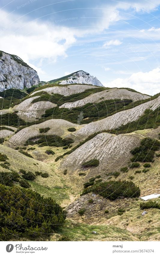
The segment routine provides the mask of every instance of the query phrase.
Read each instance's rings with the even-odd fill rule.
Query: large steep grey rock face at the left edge
[[[22,64],[21,64],[22,63]],[[39,84],[37,72],[16,55],[0,55],[0,91],[10,88],[23,89]]]

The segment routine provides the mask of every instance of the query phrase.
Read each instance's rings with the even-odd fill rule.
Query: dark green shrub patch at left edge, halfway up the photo
[[[16,113],[7,113],[4,115],[1,115],[1,125],[8,125],[8,126],[14,126],[19,127],[20,125],[26,125],[26,122],[23,121]]]

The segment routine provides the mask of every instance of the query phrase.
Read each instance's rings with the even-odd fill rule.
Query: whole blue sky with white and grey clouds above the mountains
[[[160,92],[160,0],[1,0],[0,50],[41,81],[83,70],[105,87]]]

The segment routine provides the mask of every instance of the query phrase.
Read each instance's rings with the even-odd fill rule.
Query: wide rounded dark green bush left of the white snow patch
[[[104,198],[115,200],[117,198],[132,198],[140,196],[140,188],[133,182],[129,181],[108,181],[100,182],[96,186],[85,188],[82,194],[93,192],[99,194]]]

